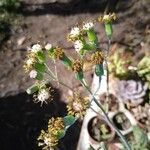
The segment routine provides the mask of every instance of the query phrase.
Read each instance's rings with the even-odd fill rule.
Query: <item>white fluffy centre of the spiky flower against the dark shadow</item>
[[[40,102],[46,101],[47,99],[49,99],[49,97],[50,97],[50,94],[47,89],[41,89],[37,96],[38,101]]]

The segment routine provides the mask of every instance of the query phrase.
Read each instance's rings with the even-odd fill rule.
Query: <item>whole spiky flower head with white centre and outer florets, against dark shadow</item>
[[[46,103],[48,101],[51,101],[53,100],[53,89],[50,87],[50,88],[42,88],[39,90],[38,94],[34,95],[34,102],[38,103],[40,102],[41,103],[41,106],[43,105],[43,103]]]

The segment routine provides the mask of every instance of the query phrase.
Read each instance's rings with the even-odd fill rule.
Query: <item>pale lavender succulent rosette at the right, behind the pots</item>
[[[143,84],[141,81],[116,79],[110,90],[123,103],[137,106],[144,101],[147,88],[147,84]]]

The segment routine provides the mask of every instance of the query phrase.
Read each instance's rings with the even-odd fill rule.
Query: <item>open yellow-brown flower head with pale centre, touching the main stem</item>
[[[87,108],[89,107],[89,98],[82,97],[78,92],[68,97],[67,111],[69,115],[83,119]]]

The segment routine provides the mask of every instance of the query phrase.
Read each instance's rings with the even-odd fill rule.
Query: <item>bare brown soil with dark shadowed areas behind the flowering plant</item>
[[[66,40],[72,26],[82,20],[95,19],[103,14],[106,0],[23,0],[20,10],[21,25],[11,31],[11,36],[0,51],[0,149],[37,150],[36,138],[39,131],[46,127],[51,116],[65,115],[66,89],[61,88],[56,101],[40,107],[34,104],[25,90],[33,81],[24,73],[22,66],[27,47],[35,43],[47,42],[59,45],[67,53],[74,55],[73,47]],[[118,20],[114,24],[112,44],[127,46],[140,57],[141,42],[149,46],[150,2],[147,0],[109,0],[108,11],[115,11]],[[102,25],[96,25],[101,45],[106,36]],[[147,46],[148,45],[148,46]],[[73,75],[58,64],[59,75],[70,86],[79,88]],[[89,78],[91,74],[89,73]],[[57,95],[58,95],[57,94]],[[68,136],[60,144],[61,150],[75,150],[80,131],[80,123],[72,127]],[[73,136],[72,136],[73,135]],[[68,146],[68,147],[67,147]]]

